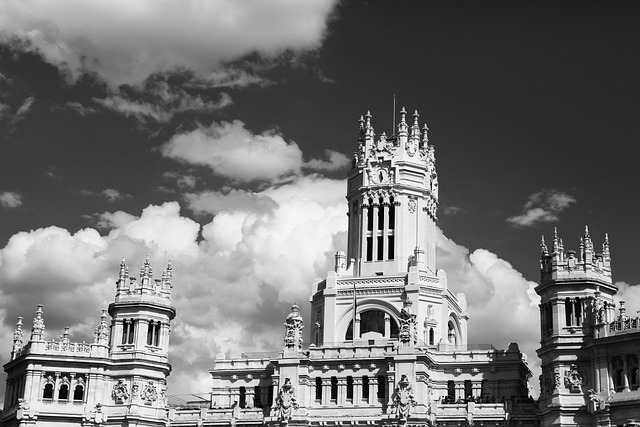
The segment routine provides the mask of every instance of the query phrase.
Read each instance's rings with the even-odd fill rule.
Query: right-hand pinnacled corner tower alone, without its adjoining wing
[[[535,290],[541,298],[541,424],[592,425],[588,390],[609,388],[593,346],[614,320],[618,291],[611,279],[609,238],[605,235],[602,252],[596,252],[585,227],[576,252],[565,250],[554,229],[551,251],[544,236],[540,248],[540,284]],[[602,363],[606,370],[606,360]]]

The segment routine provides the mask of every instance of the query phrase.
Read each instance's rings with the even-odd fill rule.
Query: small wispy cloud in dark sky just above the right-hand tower
[[[507,218],[507,222],[520,227],[534,227],[541,223],[554,222],[558,215],[576,199],[561,191],[542,190],[529,196],[522,214]]]

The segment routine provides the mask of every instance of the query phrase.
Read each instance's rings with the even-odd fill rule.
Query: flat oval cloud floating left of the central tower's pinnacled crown
[[[240,120],[212,123],[174,135],[162,154],[187,164],[207,166],[214,174],[239,182],[274,181],[300,174],[302,168],[336,170],[344,167],[344,154],[327,150],[328,160],[303,161],[298,145],[276,131],[256,135]]]

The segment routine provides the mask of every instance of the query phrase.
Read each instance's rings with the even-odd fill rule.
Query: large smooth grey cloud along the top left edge
[[[323,39],[334,0],[6,0],[0,28],[55,64],[93,68],[114,86],[188,67],[206,75],[251,52],[274,57]]]

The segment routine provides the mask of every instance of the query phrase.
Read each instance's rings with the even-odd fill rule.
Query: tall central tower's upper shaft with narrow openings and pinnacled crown
[[[416,249],[418,261],[435,273],[435,224],[438,175],[427,125],[420,130],[404,108],[396,134],[376,138],[371,114],[360,117],[358,151],[348,175],[347,257],[354,274],[373,276],[407,272]]]

